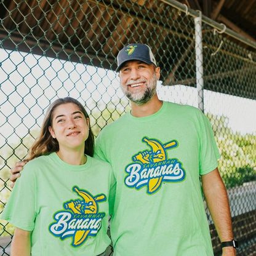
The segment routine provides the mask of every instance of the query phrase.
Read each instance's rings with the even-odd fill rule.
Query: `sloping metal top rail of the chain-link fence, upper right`
[[[230,30],[230,28],[226,28],[226,26],[223,23],[218,23],[215,22],[214,20],[212,20],[211,18],[206,17],[205,15],[202,15],[201,11],[199,10],[193,10],[188,8],[188,6],[186,6],[186,4],[182,4],[180,2],[177,2],[175,0],[161,0],[162,2],[166,2],[166,4],[169,4],[170,6],[173,6],[175,8],[177,8],[178,10],[181,10],[182,12],[185,12],[188,15],[191,15],[192,17],[202,17],[202,22],[206,23],[207,25],[212,26],[213,28],[219,30],[219,31],[223,31],[223,29],[225,28],[225,33],[228,34],[229,36],[243,42],[244,44],[247,44],[250,47],[253,47],[254,49],[256,49],[256,42],[251,41],[247,38],[245,38],[244,36],[241,36],[241,34],[238,34],[236,32],[234,32],[233,30]]]

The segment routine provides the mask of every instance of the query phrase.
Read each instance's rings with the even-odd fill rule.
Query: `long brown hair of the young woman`
[[[52,126],[52,113],[54,112],[55,108],[66,103],[76,104],[79,110],[81,110],[81,112],[84,114],[84,116],[86,118],[89,118],[89,115],[87,114],[84,106],[82,106],[82,104],[78,100],[71,97],[58,98],[58,100],[55,100],[55,102],[53,102],[47,109],[46,116],[44,117],[44,121],[42,122],[39,137],[31,146],[28,158],[26,158],[25,161],[30,161],[31,159],[38,158],[38,156],[50,154],[59,150],[58,141],[55,138],[52,138],[52,135],[50,135],[49,126]],[[88,156],[93,156],[94,134],[92,133],[90,124],[89,137],[87,138],[86,142],[84,142],[84,144],[84,153]]]

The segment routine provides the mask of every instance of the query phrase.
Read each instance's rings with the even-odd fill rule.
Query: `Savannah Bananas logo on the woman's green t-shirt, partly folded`
[[[60,239],[72,236],[72,246],[78,247],[86,242],[89,236],[96,236],[102,225],[104,212],[98,212],[98,202],[106,201],[105,194],[92,196],[89,191],[80,190],[78,186],[73,191],[82,200],[70,200],[63,204],[64,209],[54,215],[55,222],[49,226],[50,233]]]

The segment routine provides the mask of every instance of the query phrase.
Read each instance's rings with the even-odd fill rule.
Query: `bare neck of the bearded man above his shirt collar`
[[[162,106],[162,101],[159,100],[158,95],[154,95],[151,100],[143,105],[137,105],[131,102],[132,111],[131,114],[135,118],[144,118],[145,116],[150,116],[160,110]]]

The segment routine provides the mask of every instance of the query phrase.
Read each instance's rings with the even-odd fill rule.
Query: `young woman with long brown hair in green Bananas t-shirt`
[[[93,153],[81,103],[52,103],[1,215],[16,227],[11,255],[103,255],[114,179]]]

